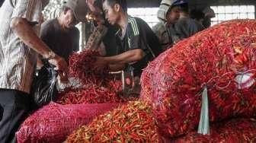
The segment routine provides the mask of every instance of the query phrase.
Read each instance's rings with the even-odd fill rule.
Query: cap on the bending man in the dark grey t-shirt
[[[85,0],[67,0],[64,2],[64,6],[72,9],[75,14],[75,18],[79,22],[85,22],[85,16],[88,12],[88,7]]]

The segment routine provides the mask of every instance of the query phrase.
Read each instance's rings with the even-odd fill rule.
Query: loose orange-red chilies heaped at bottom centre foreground
[[[159,142],[152,109],[135,101],[98,116],[66,140],[75,142]]]

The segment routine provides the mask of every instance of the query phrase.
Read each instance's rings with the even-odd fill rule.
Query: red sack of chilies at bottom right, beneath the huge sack
[[[190,132],[184,137],[172,140],[174,143],[216,143],[216,142],[256,142],[255,119],[232,119],[213,125],[210,135]]]

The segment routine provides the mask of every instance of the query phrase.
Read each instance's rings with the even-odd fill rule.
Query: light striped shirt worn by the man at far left
[[[39,34],[41,12],[48,2],[5,0],[0,8],[0,88],[30,93],[37,53],[21,42],[10,24],[14,17],[26,18],[28,22],[38,23],[33,28]]]

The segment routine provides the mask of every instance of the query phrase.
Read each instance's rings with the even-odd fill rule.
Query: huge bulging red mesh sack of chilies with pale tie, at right
[[[162,135],[197,126],[209,133],[209,122],[256,115],[255,74],[256,21],[227,21],[151,62],[142,73],[141,98],[152,105]]]

